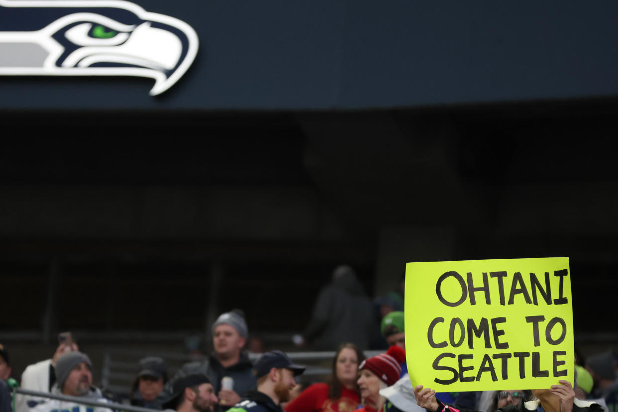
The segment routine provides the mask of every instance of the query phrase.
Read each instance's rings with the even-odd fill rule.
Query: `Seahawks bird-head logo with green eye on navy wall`
[[[193,63],[195,30],[123,0],[0,0],[0,75],[135,76],[163,93]]]

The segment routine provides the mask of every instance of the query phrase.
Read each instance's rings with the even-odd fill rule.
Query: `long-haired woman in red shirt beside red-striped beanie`
[[[353,412],[360,403],[358,364],[365,360],[353,343],[344,343],[332,359],[328,384],[313,384],[286,406],[286,412]]]

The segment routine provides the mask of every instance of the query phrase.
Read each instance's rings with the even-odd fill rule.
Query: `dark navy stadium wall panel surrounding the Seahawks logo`
[[[368,109],[618,93],[609,0],[137,4],[199,38],[169,90],[148,95],[151,78],[0,75],[0,108]],[[37,29],[15,15],[0,7],[0,30]]]

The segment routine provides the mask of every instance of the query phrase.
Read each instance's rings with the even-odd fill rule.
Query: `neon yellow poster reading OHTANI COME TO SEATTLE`
[[[574,380],[569,258],[408,263],[412,385],[546,389]]]

